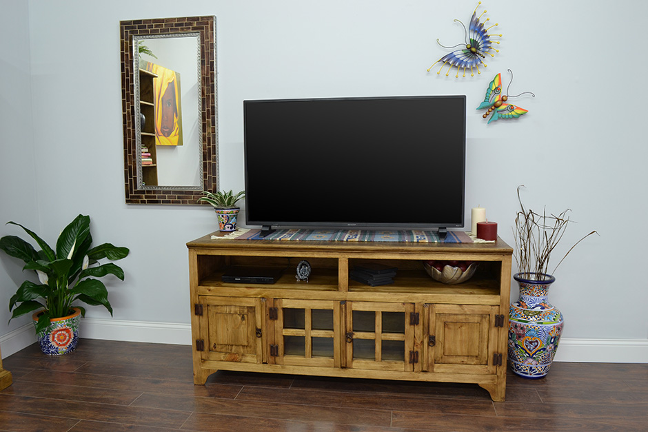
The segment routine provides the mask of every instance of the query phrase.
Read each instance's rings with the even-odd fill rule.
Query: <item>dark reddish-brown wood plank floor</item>
[[[192,382],[191,347],[83,339],[3,360],[1,431],[648,431],[648,364],[556,362],[509,373],[507,401],[474,385],[219,371]]]

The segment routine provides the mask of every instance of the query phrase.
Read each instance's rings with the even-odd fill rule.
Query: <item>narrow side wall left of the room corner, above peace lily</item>
[[[4,236],[18,234],[11,225],[4,225],[9,220],[40,231],[39,210],[43,207],[39,205],[39,173],[34,165],[28,3],[2,0],[0,10],[12,11],[11,19],[3,19],[0,25],[0,40],[5,41],[0,48],[0,233]],[[28,324],[31,317],[7,324],[9,299],[27,273],[21,271],[22,261],[0,253],[0,334],[5,334]],[[1,348],[7,356],[22,347],[3,343]]]

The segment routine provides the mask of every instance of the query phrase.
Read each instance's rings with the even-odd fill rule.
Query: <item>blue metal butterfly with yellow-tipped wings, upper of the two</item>
[[[454,45],[452,47],[446,47],[441,45],[441,43],[436,39],[436,43],[441,45],[443,48],[447,48],[449,50],[452,50],[452,48],[458,48],[458,50],[454,50],[453,52],[450,52],[449,54],[445,54],[445,56],[441,57],[441,59],[438,59],[434,63],[432,63],[432,66],[436,65],[436,63],[443,63],[441,65],[441,68],[436,72],[436,74],[441,74],[441,70],[445,65],[449,65],[449,68],[445,74],[445,76],[448,76],[450,73],[450,70],[456,66],[457,68],[457,74],[455,78],[459,77],[459,71],[463,68],[463,76],[466,76],[466,69],[470,69],[470,76],[475,76],[473,72],[473,68],[477,71],[477,74],[481,74],[479,70],[479,65],[483,65],[484,68],[487,68],[486,63],[484,63],[483,59],[486,58],[487,55],[490,55],[492,57],[495,56],[490,51],[495,51],[499,52],[499,50],[496,50],[493,47],[494,43],[499,44],[499,41],[491,41],[491,37],[502,37],[501,34],[487,34],[487,31],[490,30],[491,28],[495,27],[498,25],[498,23],[495,23],[494,25],[491,25],[489,28],[484,28],[484,23],[480,21],[481,17],[483,17],[483,14],[487,12],[487,10],[484,10],[479,17],[477,16],[477,9],[479,8],[479,5],[481,4],[481,1],[477,3],[477,7],[475,8],[474,12],[472,13],[472,18],[470,19],[470,27],[469,30],[466,30],[466,26],[459,21],[458,19],[455,19],[455,22],[460,23],[463,25],[463,30],[465,32],[465,43],[459,43],[458,45]],[[487,18],[485,21],[490,21],[490,18]],[[427,72],[429,72],[430,69],[432,69],[432,66],[430,66],[427,69]]]

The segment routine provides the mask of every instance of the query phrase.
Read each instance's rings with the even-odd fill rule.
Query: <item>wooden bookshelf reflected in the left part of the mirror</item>
[[[153,79],[156,74],[148,70],[139,70],[139,110],[144,115],[146,121],[141,129],[142,153],[150,154],[148,156],[150,164],[142,163],[142,181],[146,186],[157,185],[157,157],[155,151],[155,129],[154,129],[154,98],[153,98]],[[146,151],[145,151],[146,150]]]

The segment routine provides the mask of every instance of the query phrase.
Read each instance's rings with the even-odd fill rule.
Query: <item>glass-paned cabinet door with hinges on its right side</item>
[[[345,367],[421,371],[414,303],[345,302]]]

